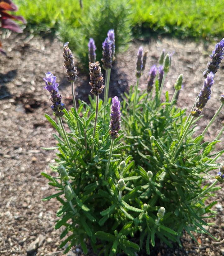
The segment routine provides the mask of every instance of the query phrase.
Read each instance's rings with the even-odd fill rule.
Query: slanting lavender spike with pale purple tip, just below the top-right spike
[[[191,111],[191,115],[192,116],[199,116],[204,108],[204,106],[206,105],[206,103],[208,102],[208,100],[211,98],[211,87],[214,84],[214,74],[213,72],[210,72],[206,79],[204,80],[204,84],[201,88],[201,91],[199,93],[199,97],[195,103],[195,107],[193,109],[193,111]]]

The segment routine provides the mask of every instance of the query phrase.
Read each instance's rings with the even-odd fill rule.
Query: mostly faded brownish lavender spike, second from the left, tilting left
[[[68,81],[75,82],[77,79],[77,68],[75,67],[74,57],[71,50],[68,48],[68,42],[63,47],[63,57],[65,59],[64,67],[67,70]]]

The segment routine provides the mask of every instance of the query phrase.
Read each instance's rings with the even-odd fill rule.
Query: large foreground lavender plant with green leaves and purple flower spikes
[[[108,34],[110,38],[112,32]],[[104,67],[112,63],[113,48],[109,41],[114,43],[113,40],[106,40],[103,45]],[[215,49],[219,58],[224,50],[222,41]],[[94,49],[93,45],[91,47]],[[66,53],[73,60],[68,49]],[[207,205],[206,199],[220,189],[216,186],[218,182],[224,182],[224,165],[217,162],[224,149],[215,152],[224,126],[212,142],[203,141],[203,136],[221,111],[224,96],[221,95],[221,106],[208,126],[195,136],[195,127],[203,118],[200,114],[202,109],[206,111],[215,86],[214,70],[206,76],[187,117],[186,110],[175,104],[183,82],[182,74],[174,84],[172,99],[168,92],[163,95],[171,56],[164,56],[164,51],[162,55],[159,62],[164,71],[161,85],[157,76],[159,68],[153,65],[147,91],[139,91],[138,82],[142,79],[147,56],[139,48],[135,89],[125,93],[121,102],[117,97],[120,95],[112,101],[105,99],[107,105],[99,99],[104,89],[99,62],[89,63],[89,84],[96,99],[89,97],[90,105],[78,100],[77,110],[65,108],[53,74],[48,72],[44,78],[44,88],[52,95],[51,108],[58,123],[49,115],[45,116],[56,129],[53,137],[58,143],[54,148],[57,149],[56,164],[50,165],[57,174],[42,173],[56,188],[56,193],[43,200],[55,197],[61,203],[55,228],[64,226],[60,246],[66,245],[65,253],[81,244],[84,254],[92,248],[96,255],[125,253],[134,256],[145,248],[149,255],[156,239],[169,246],[173,242],[181,245],[183,230],[194,240],[195,232],[211,236],[204,226],[212,224],[209,218],[216,214],[212,210],[216,202]],[[107,78],[108,88],[109,81]],[[69,131],[65,130],[64,122]],[[214,169],[218,169],[217,175],[208,186],[207,176],[211,176]]]

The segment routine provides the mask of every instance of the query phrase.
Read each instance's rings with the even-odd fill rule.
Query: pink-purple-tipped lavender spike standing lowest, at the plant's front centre
[[[121,104],[118,100],[117,96],[113,97],[112,99],[112,106],[111,106],[111,121],[110,121],[110,136],[112,139],[118,138],[118,131],[121,129]]]

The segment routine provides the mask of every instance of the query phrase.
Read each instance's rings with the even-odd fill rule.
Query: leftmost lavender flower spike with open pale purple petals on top
[[[43,88],[48,90],[51,93],[51,101],[53,105],[51,108],[57,117],[62,117],[64,112],[62,110],[65,108],[65,104],[61,102],[62,96],[58,90],[58,83],[56,83],[56,76],[54,76],[51,72],[45,73],[46,78],[44,77],[43,80],[45,81],[46,86]]]

